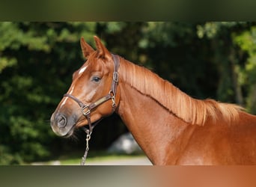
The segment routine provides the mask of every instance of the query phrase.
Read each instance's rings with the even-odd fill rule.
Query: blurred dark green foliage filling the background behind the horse
[[[237,102],[256,114],[255,22],[0,22],[0,165],[49,159],[75,148],[49,118],[93,36],[199,99]],[[117,115],[91,141],[104,149],[127,129]],[[74,147],[74,144],[76,146]]]

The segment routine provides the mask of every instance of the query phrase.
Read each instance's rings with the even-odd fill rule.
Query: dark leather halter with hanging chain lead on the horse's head
[[[88,120],[89,129],[85,128],[85,132],[87,134],[86,135],[86,149],[85,149],[85,155],[82,157],[81,165],[85,165],[85,159],[86,159],[86,156],[87,156],[88,150],[89,150],[88,141],[91,138],[91,133],[94,129],[94,126],[97,124],[97,123],[94,123],[94,125],[93,125],[91,123],[91,110],[93,110],[94,108],[97,108],[99,105],[103,104],[103,102],[106,102],[109,99],[112,99],[113,112],[115,111],[115,108],[116,108],[115,96],[116,96],[117,87],[118,87],[118,78],[119,78],[118,77],[118,67],[120,65],[120,58],[118,57],[118,55],[114,55],[114,54],[112,54],[112,58],[114,61],[114,72],[113,72],[113,77],[112,77],[112,85],[111,85],[111,89],[110,89],[109,93],[106,96],[103,96],[102,98],[98,99],[97,101],[86,105],[80,99],[76,98],[76,96],[73,96],[69,93],[64,94],[64,96],[70,97],[70,99],[73,99],[74,101],[77,102],[77,104],[79,104],[82,114]]]

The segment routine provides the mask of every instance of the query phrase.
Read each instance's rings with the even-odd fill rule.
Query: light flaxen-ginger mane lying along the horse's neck
[[[222,119],[228,124],[238,120],[239,111],[243,109],[239,105],[213,99],[194,99],[150,70],[121,59],[125,62],[122,64],[122,75],[124,74],[127,84],[150,96],[186,123],[204,126],[207,120],[216,123]]]

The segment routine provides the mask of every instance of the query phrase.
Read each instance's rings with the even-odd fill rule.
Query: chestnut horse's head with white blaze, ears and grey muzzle
[[[51,126],[56,135],[69,137],[80,126],[90,125],[91,129],[91,123],[112,114],[118,105],[115,69],[119,58],[112,55],[98,37],[94,40],[97,50],[81,38],[82,54],[87,61],[73,73],[69,90],[52,114]]]

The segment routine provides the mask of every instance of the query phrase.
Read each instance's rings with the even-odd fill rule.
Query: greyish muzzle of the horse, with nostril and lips
[[[75,115],[67,116],[67,114],[60,112],[53,113],[51,117],[52,131],[58,136],[70,137],[76,126],[76,118]]]

